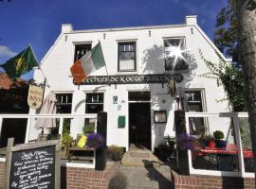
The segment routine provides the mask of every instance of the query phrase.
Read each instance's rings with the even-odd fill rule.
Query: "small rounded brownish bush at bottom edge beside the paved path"
[[[117,172],[109,181],[108,189],[126,189],[127,186],[127,178],[121,172]]]

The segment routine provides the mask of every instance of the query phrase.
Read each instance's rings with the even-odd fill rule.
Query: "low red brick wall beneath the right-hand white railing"
[[[184,189],[254,189],[254,179],[191,175],[182,176],[173,172],[174,188]]]

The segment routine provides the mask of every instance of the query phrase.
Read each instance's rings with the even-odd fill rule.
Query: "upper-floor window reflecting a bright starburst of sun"
[[[164,40],[164,57],[166,71],[188,70],[186,62],[185,39],[174,38]]]

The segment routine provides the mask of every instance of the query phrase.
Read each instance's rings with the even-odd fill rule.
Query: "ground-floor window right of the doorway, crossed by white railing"
[[[204,112],[201,90],[186,91],[185,94],[187,97],[189,112]],[[204,118],[193,117],[190,119],[191,129],[193,129],[192,132],[194,132],[194,134],[206,133],[206,124]]]

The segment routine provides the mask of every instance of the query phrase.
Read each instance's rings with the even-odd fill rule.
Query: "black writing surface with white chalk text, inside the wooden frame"
[[[12,152],[10,189],[53,189],[54,184],[55,146]]]

